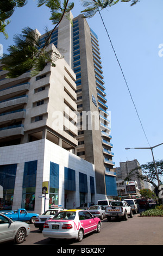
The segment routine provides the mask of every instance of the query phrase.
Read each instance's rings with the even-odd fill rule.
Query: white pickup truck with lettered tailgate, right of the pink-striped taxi
[[[130,218],[133,217],[133,211],[127,202],[113,201],[110,206],[106,207],[106,217],[108,221],[111,220],[111,217],[122,217],[123,220],[127,221],[128,215]]]

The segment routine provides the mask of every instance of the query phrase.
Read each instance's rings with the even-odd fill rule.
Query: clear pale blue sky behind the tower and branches
[[[80,0],[70,2],[74,2],[72,14],[76,17],[84,8]],[[45,27],[49,30],[54,27],[49,20],[49,9],[45,6],[37,8],[36,3],[36,0],[28,0],[25,7],[15,10],[7,26],[9,38],[5,39],[0,34],[3,52],[7,53],[8,46],[14,44],[13,35],[21,33],[25,27],[37,28],[41,34],[45,33]],[[163,143],[162,11],[163,0],[140,0],[133,7],[130,7],[130,2],[118,2],[101,11],[136,109],[101,17],[97,13],[87,19],[89,26],[98,35],[108,100],[106,105],[111,113],[110,135],[115,167],[119,167],[120,162],[134,159],[140,164],[153,161],[149,149],[125,148],[153,147]],[[163,159],[162,152],[163,145],[153,149],[155,160]]]

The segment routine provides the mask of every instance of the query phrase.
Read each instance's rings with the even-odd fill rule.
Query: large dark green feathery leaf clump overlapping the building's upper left
[[[8,48],[9,54],[4,54],[1,63],[4,64],[3,70],[8,70],[7,77],[15,78],[29,70],[31,76],[39,74],[45,68],[46,62],[55,65],[55,60],[62,58],[58,53],[39,48],[40,37],[32,28],[24,28],[22,34],[14,36],[15,45]],[[47,42],[46,47],[49,45]],[[55,54],[55,58],[54,58]]]

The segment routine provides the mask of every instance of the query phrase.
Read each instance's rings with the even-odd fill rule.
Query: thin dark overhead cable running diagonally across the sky
[[[135,103],[134,103],[133,97],[132,97],[132,95],[131,95],[131,93],[130,93],[130,89],[129,89],[129,86],[128,86],[128,83],[127,83],[126,77],[124,76],[124,73],[123,73],[123,70],[122,70],[121,64],[120,64],[120,62],[119,62],[119,60],[118,60],[118,58],[117,58],[117,54],[116,54],[116,52],[115,52],[115,50],[114,50],[114,46],[112,45],[112,41],[111,41],[111,39],[110,39],[110,36],[109,36],[108,30],[106,29],[105,23],[104,23],[104,21],[103,21],[102,15],[101,15],[101,13],[100,13],[100,11],[99,11],[99,10],[98,10],[98,13],[99,13],[99,15],[100,15],[100,17],[101,17],[101,20],[102,20],[102,22],[103,22],[103,25],[104,25],[105,31],[106,31],[106,33],[107,33],[107,35],[108,35],[109,40],[110,40],[110,44],[111,44],[112,50],[114,51],[114,54],[115,54],[115,57],[116,57],[116,59],[117,59],[118,65],[120,66],[120,69],[121,69],[121,72],[122,72],[122,75],[123,75],[124,81],[125,81],[125,83],[126,83],[127,89],[128,89],[128,91],[129,91],[129,94],[130,94],[131,100],[133,101],[133,104],[134,104],[134,107],[135,107],[135,110],[136,110],[137,117],[139,118],[139,121],[140,121],[140,124],[141,124],[142,130],[143,130],[143,133],[145,134],[145,137],[146,137],[147,142],[148,142],[148,144],[149,144],[148,138],[147,138],[147,136],[146,136],[146,132],[145,132],[145,130],[144,130],[144,128],[143,128],[143,125],[142,125],[141,119],[140,119],[139,114],[138,114],[138,112],[137,112],[137,108],[136,108],[136,106],[135,106]],[[150,144],[149,144],[149,147],[151,147],[151,145],[150,145]]]

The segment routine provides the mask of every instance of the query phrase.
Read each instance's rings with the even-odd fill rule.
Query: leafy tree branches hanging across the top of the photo
[[[66,17],[70,20],[69,11],[73,9],[74,3],[68,3],[69,0],[37,0],[37,7],[41,7],[45,4],[51,10],[52,23],[55,25],[54,29],[59,25],[62,17]],[[106,7],[111,7],[117,4],[120,0],[80,0],[86,9],[82,11],[84,17],[92,17],[97,11]],[[130,2],[131,5],[136,4],[140,0],[121,0],[121,2]],[[5,27],[8,25],[7,20],[15,11],[16,7],[23,7],[27,3],[27,0],[1,0],[0,2],[0,33],[2,32],[7,38],[8,35],[5,32]],[[45,45],[41,48],[40,38],[33,31],[32,28],[24,28],[21,35],[14,35],[15,45],[11,45],[8,48],[9,54],[4,54],[1,59],[1,63],[4,64],[3,69],[9,71],[8,78],[18,77],[24,72],[32,70],[30,74],[32,76],[37,75],[45,67],[47,61],[51,62],[55,66],[54,61],[61,56],[58,53],[46,51],[48,45],[51,42],[51,35],[54,29],[49,33],[47,32],[47,38]],[[39,50],[40,49],[40,50]],[[53,55],[53,57],[52,57]],[[54,58],[55,56],[55,58]]]

